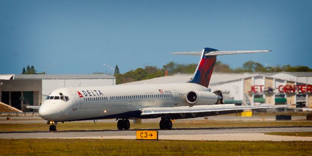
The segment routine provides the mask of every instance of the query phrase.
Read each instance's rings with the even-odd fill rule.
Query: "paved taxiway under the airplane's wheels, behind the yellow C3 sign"
[[[142,130],[142,129],[140,129]],[[301,127],[260,127],[260,128],[179,128],[158,130],[159,139],[173,140],[240,140],[240,141],[312,141],[312,137],[288,137],[265,135],[267,132],[312,132],[311,126]],[[58,132],[2,132],[0,138],[95,138],[95,139],[136,139],[136,130],[86,130]]]

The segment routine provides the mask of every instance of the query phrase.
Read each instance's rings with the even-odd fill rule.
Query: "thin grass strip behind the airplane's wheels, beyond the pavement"
[[[173,128],[203,128],[203,127],[263,127],[263,126],[311,126],[312,122],[307,120],[292,121],[187,121],[173,122]],[[158,123],[131,124],[131,129],[158,129]],[[0,132],[12,131],[47,131],[49,125],[46,123],[1,123]],[[65,122],[57,125],[59,131],[69,130],[109,130],[117,129],[117,123],[92,123],[92,122]]]

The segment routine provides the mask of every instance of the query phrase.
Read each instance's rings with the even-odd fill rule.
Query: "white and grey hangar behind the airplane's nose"
[[[24,111],[27,105],[41,105],[58,88],[115,84],[115,77],[102,74],[0,75],[0,101]]]

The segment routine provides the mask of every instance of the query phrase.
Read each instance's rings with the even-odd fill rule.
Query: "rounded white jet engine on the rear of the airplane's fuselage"
[[[212,92],[191,91],[187,93],[186,100],[191,105],[213,105],[219,101],[219,98]]]

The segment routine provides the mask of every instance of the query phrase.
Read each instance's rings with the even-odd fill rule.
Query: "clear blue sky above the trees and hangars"
[[[273,50],[219,56],[312,68],[312,0],[0,0],[0,74],[120,72],[198,57],[175,51]]]

